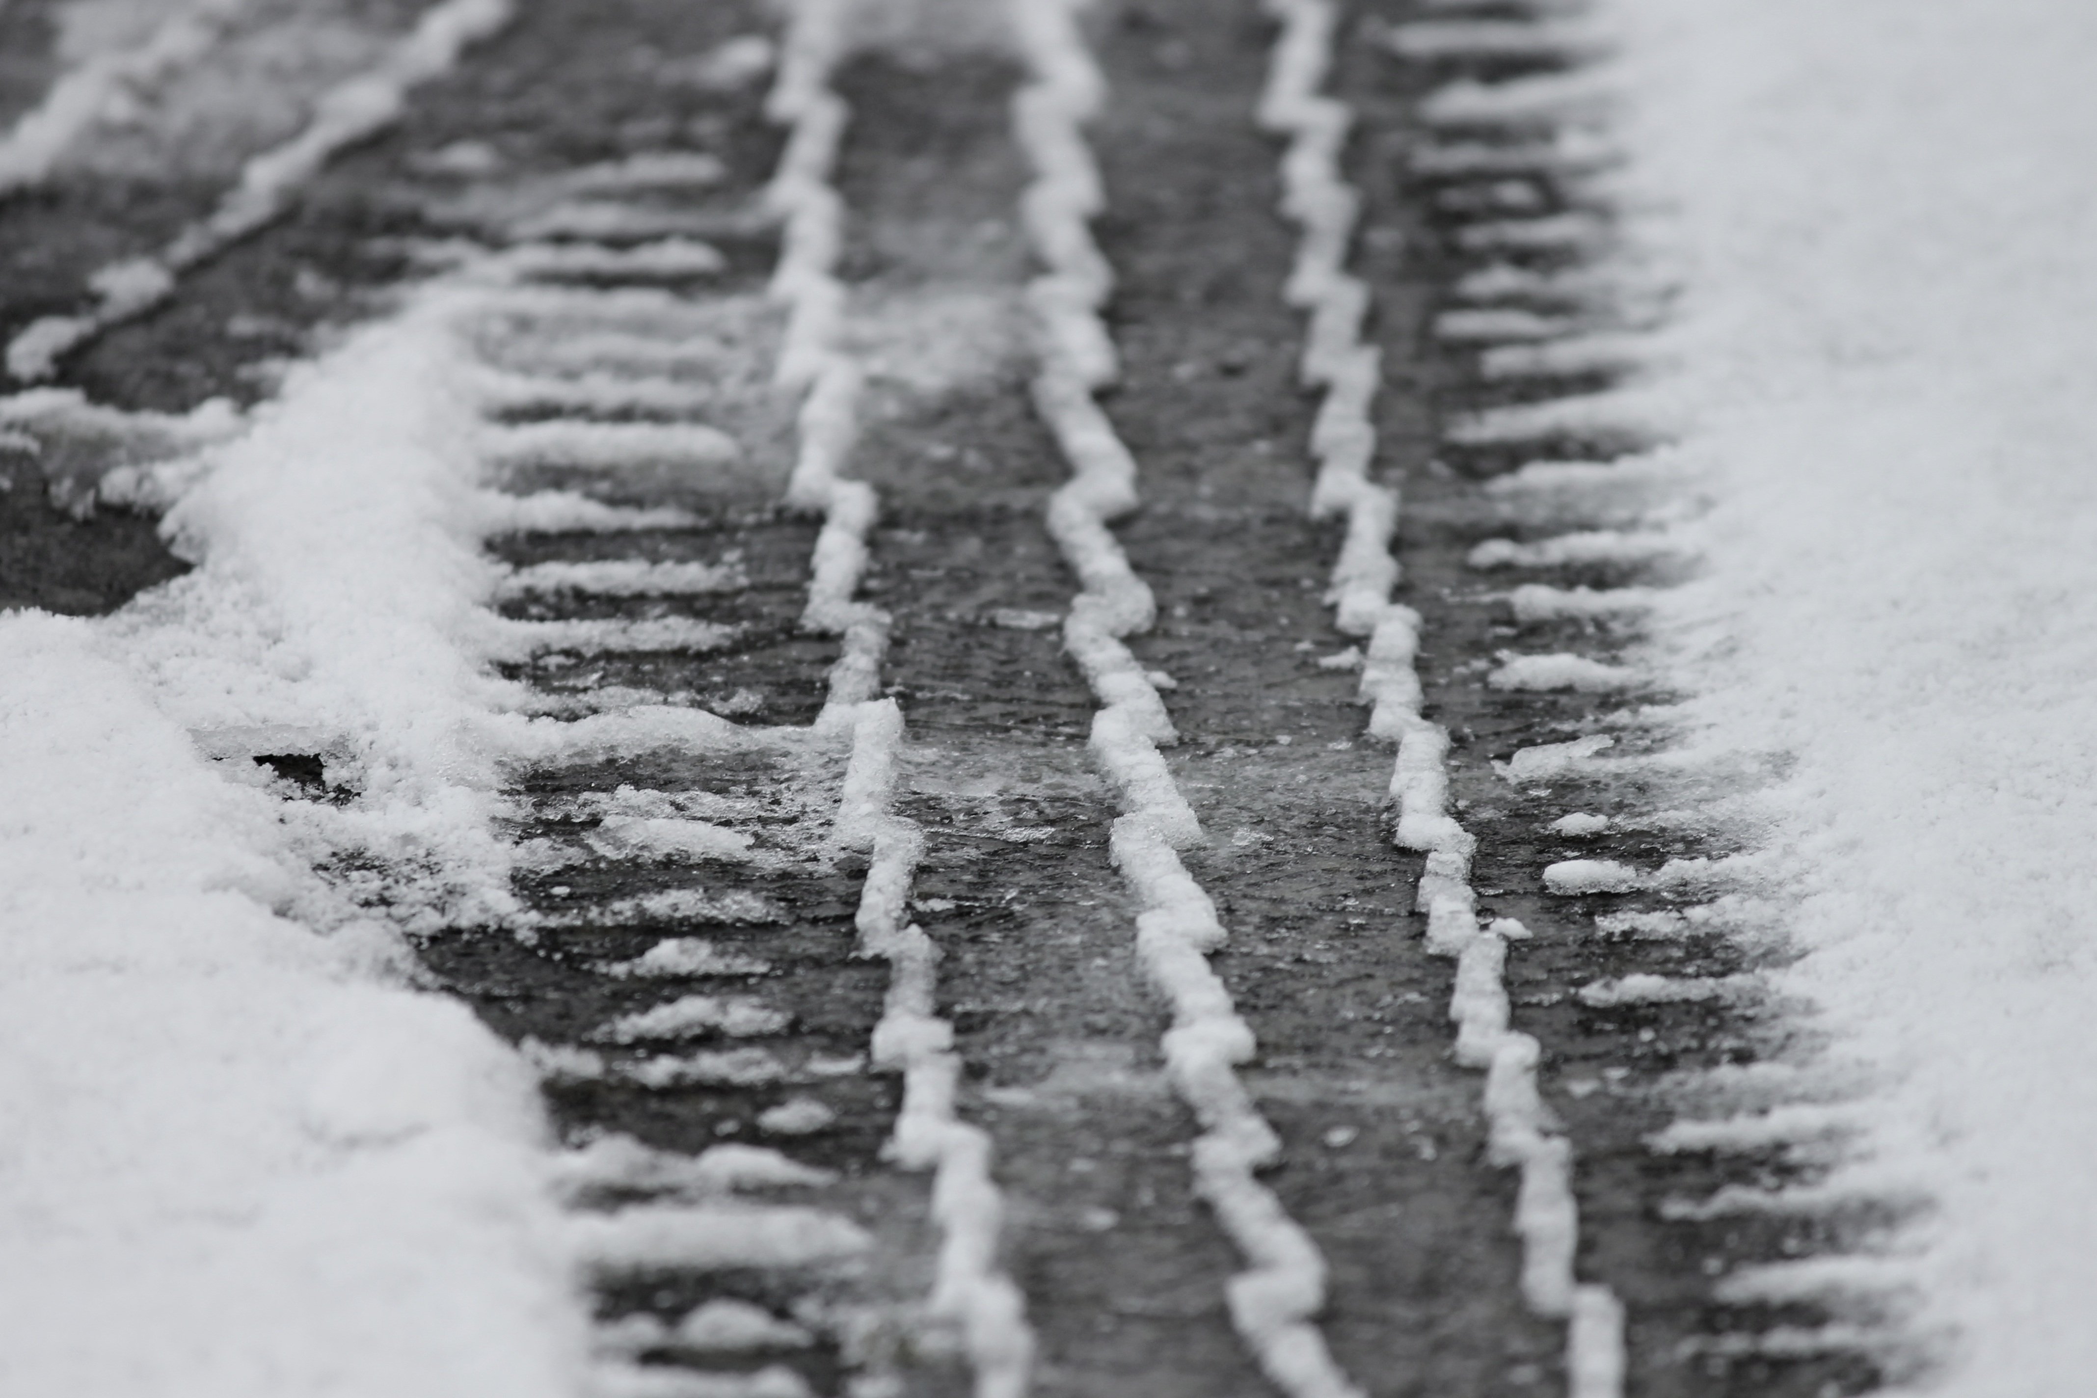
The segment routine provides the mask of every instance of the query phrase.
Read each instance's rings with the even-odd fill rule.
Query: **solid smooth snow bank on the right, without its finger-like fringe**
[[[1785,750],[1810,952],[1940,1214],[1900,1274],[1959,1398],[2097,1373],[2097,8],[1610,0],[1717,469],[1663,633]]]

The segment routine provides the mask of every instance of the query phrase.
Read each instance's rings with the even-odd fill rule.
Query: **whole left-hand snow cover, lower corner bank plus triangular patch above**
[[[526,721],[482,667],[455,296],[166,474],[195,572],[103,620],[0,620],[0,1388],[581,1381],[533,1073],[310,872],[367,851],[417,874],[409,922],[507,910],[489,817]],[[359,799],[256,790],[275,752]]]

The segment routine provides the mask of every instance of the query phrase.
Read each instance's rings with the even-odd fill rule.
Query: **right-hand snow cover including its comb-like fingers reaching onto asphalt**
[[[1694,476],[1709,514],[1655,524],[1602,507],[1615,518],[1583,528],[1575,509],[1564,532],[1476,545],[1474,568],[1694,562],[1676,587],[1522,585],[1518,620],[1646,618],[1646,646],[1634,667],[1504,656],[1491,683],[1686,696],[1667,711],[1678,750],[1625,759],[1623,771],[1688,792],[1699,771],[1768,773],[1782,755],[1780,780],[1757,778],[1755,855],[1655,874],[1571,857],[1543,878],[1566,897],[1715,878],[1734,893],[1688,908],[1688,924],[1776,916],[1795,952],[1759,991],[1623,977],[1579,998],[1808,1004],[1829,1035],[1822,1063],[1770,1065],[1766,1082],[1789,1073],[1806,1090],[1839,1069],[1862,1094],[1843,1109],[1841,1149],[1816,1146],[1831,1161],[1818,1184],[1722,1191],[1671,1216],[1927,1201],[1923,1222],[1847,1253],[1720,1283],[1728,1302],[1812,1302],[1858,1323],[1726,1335],[1696,1352],[1847,1348],[1887,1360],[1917,1392],[2082,1392],[2097,1373],[2082,1316],[2097,1293],[2084,1165],[2097,1079],[2063,1065],[2080,1052],[2097,977],[2097,413],[2070,367],[2097,354],[2097,182],[2084,155],[2097,19],[2049,0],[1600,0],[1577,29],[1518,29],[1436,21],[1392,42],[1506,54],[1564,40],[1604,54],[1558,75],[1455,82],[1426,111],[1525,140],[1541,124],[1606,119],[1625,163],[1590,182],[1606,193],[1600,212],[1474,224],[1474,254],[1550,247],[1583,266],[1474,272],[1460,287],[1474,308],[1439,329],[1501,346],[1485,352],[1485,377],[1627,377],[1462,419],[1449,440],[1671,438],[1548,469],[1592,493],[1610,474]],[[1495,159],[1514,149],[1491,147]],[[1640,285],[1657,279],[1676,293],[1665,331],[1646,333]],[[1510,482],[1506,499],[1522,488]],[[1610,765],[1541,752],[1527,765],[1518,755],[1510,780],[1596,780]],[[1554,826],[1602,828],[1571,815]],[[1759,897],[1774,903],[1749,912]],[[1686,926],[1684,912],[1596,922],[1634,935]],[[1736,1079],[1713,1073],[1701,1090],[1728,1100]],[[1806,1111],[1818,1109],[1776,1107]],[[1665,1140],[1730,1140],[1757,1121],[1692,1115]]]

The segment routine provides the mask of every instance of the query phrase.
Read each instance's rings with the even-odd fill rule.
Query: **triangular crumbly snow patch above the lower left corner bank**
[[[199,568],[107,622],[185,727],[235,744],[306,734],[300,750],[363,796],[308,815],[338,843],[442,870],[419,891],[430,924],[512,908],[487,822],[505,734],[522,729],[497,713],[514,687],[480,664],[501,625],[480,606],[497,566],[478,549],[459,296],[434,289],[296,369],[168,514]]]

